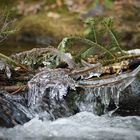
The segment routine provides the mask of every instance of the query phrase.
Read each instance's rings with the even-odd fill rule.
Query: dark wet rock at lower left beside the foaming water
[[[11,97],[8,93],[0,92],[0,126],[14,127],[30,120],[24,107],[20,108],[23,101],[22,97]]]

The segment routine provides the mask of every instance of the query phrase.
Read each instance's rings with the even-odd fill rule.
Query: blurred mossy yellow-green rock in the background
[[[75,16],[49,18],[45,14],[24,17],[16,23],[17,39],[38,44],[57,44],[66,36],[82,35],[83,25]]]

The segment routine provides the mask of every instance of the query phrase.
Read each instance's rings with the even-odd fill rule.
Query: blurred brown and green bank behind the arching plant
[[[140,48],[139,0],[0,0],[0,52],[57,47],[67,36],[89,37],[85,21],[112,17],[124,49]]]

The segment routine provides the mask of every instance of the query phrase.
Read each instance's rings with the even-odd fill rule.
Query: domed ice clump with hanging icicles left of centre
[[[50,99],[62,100],[66,96],[68,87],[74,89],[74,81],[64,71],[48,70],[34,76],[28,82],[28,106],[42,102],[45,94]]]

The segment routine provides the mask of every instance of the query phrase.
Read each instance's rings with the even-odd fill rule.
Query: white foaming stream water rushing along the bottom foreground
[[[140,117],[96,116],[80,112],[55,121],[37,117],[23,126],[0,129],[1,139],[11,140],[139,140]]]

